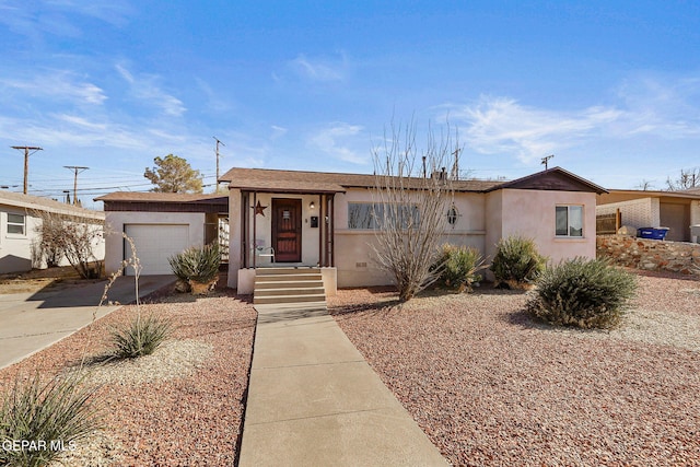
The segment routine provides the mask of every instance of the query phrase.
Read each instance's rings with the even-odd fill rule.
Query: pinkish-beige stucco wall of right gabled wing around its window
[[[575,256],[595,258],[595,194],[502,189],[489,194],[489,209],[501,205],[500,220],[491,215],[495,212],[489,211],[487,252],[490,257],[493,257],[498,238],[521,235],[533,238],[539,253],[555,264]],[[562,205],[584,207],[582,238],[555,235],[556,207]]]

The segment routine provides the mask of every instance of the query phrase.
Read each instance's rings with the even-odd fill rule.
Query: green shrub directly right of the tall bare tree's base
[[[478,249],[444,244],[433,269],[441,269],[438,285],[455,289],[459,292],[471,291],[471,287],[481,280],[477,272],[483,269],[483,258]]]

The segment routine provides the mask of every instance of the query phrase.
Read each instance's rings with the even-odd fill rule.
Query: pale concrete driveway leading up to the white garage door
[[[143,276],[141,297],[175,282],[175,276]],[[92,322],[106,281],[63,290],[0,295],[0,369],[70,336]],[[109,290],[108,300],[120,304],[135,301],[133,278],[120,277]],[[102,306],[97,318],[120,305]]]

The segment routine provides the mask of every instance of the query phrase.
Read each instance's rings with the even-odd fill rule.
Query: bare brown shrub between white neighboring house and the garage
[[[54,255],[51,258],[57,264],[60,257],[55,255],[60,252],[82,278],[102,276],[103,260],[94,254],[95,243],[103,235],[101,221],[47,211],[35,211],[34,214],[42,220],[36,233],[45,257]]]

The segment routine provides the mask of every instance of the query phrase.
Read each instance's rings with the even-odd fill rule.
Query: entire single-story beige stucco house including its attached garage
[[[104,201],[107,271],[135,240],[143,275],[170,273],[167,257],[219,237],[228,243],[229,287],[253,291],[255,270],[319,266],[330,288],[390,283],[372,255],[374,175],[232,168],[229,196],[113,192]],[[604,188],[560,167],[511,182],[453,180],[445,242],[493,257],[500,238],[535,240],[552,261],[595,257],[595,207]],[[228,226],[223,232],[222,225]],[[128,272],[128,271],[127,271]]]

